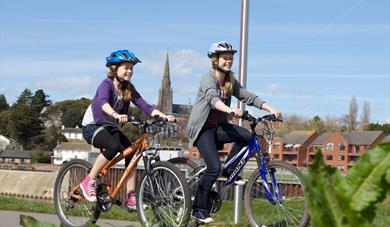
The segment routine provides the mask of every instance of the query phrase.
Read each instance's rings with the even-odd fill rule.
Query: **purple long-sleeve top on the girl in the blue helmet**
[[[154,106],[149,105],[135,89],[131,102],[148,116],[156,109]],[[106,78],[100,83],[92,104],[84,115],[83,125],[102,124],[117,126],[116,120],[102,109],[102,106],[106,103],[110,104],[118,114],[127,114],[129,112],[130,102],[123,101],[122,98],[115,94],[114,84],[110,78]]]

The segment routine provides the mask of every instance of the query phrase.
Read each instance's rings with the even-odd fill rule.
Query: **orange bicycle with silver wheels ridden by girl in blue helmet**
[[[173,164],[160,161],[158,148],[152,148],[151,142],[157,127],[166,124],[165,119],[155,117],[150,121],[141,121],[129,117],[129,122],[137,126],[141,133],[139,139],[120,155],[104,166],[96,179],[96,203],[88,202],[80,188],[80,182],[88,175],[92,165],[84,160],[74,159],[60,169],[54,185],[54,204],[57,215],[65,226],[86,226],[96,223],[101,212],[121,205],[116,199],[137,163],[143,158],[145,171],[136,188],[137,213],[144,226],[159,223],[162,226],[185,226],[190,218],[191,195],[186,179]],[[108,182],[108,170],[134,154],[119,182],[112,188]]]

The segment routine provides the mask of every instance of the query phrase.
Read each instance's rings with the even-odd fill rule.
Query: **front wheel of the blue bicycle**
[[[299,170],[282,161],[270,161],[268,170],[274,169],[282,201],[268,201],[259,168],[250,176],[244,192],[244,206],[252,226],[307,226],[310,221],[304,200],[304,185]],[[267,171],[268,172],[268,171]],[[267,173],[271,194],[275,192]]]

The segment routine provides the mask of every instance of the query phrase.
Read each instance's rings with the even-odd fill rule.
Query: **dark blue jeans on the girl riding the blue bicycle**
[[[226,160],[228,161],[249,143],[251,137],[247,129],[229,123],[222,123],[213,128],[202,128],[194,144],[198,147],[207,169],[199,181],[193,204],[194,209],[206,210],[209,207],[209,192],[221,172],[218,146],[235,142]]]

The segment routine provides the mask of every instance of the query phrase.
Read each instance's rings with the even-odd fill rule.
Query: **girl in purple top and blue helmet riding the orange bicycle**
[[[144,114],[167,118],[174,121],[171,115],[165,115],[149,105],[141,97],[130,82],[133,67],[141,61],[128,50],[118,50],[106,58],[109,68],[107,78],[99,85],[92,104],[88,107],[83,118],[83,136],[85,140],[103,152],[97,157],[89,175],[82,181],[80,187],[85,198],[90,202],[96,201],[95,179],[102,168],[112,160],[118,152],[131,145],[129,139],[119,130],[119,125],[127,122],[130,102],[134,103]],[[127,157],[127,166],[132,157]],[[129,210],[136,208],[135,202],[135,171],[127,181],[125,205]]]

